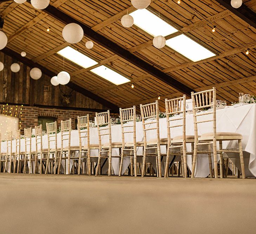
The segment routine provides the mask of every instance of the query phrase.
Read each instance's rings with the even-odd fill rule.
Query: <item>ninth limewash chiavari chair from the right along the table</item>
[[[37,172],[38,156],[40,157],[39,173],[42,174],[43,161],[46,162],[47,158],[44,155],[47,154],[48,150],[42,148],[42,125],[35,126],[35,165],[34,174]]]

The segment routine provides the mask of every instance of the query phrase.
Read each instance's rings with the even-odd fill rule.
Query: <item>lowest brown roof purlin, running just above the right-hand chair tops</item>
[[[222,83],[217,83],[217,84],[212,84],[212,85],[208,85],[208,86],[195,88],[195,91],[200,92],[200,91],[204,91],[204,90],[207,90],[209,88],[212,88],[212,87],[222,88],[222,87],[227,87],[227,86],[230,86],[230,85],[237,85],[237,84],[251,82],[251,81],[256,81],[256,75],[241,78],[241,79],[237,79],[237,80],[231,80],[231,81],[226,81],[226,82],[222,82]],[[178,92],[178,93],[169,93],[169,94],[166,94],[165,96],[162,96],[162,98],[176,98],[176,97],[179,97],[179,96],[182,96],[182,93],[180,93],[180,92]],[[156,97],[151,98],[151,99],[146,99],[146,100],[139,100],[139,101],[136,101],[136,102],[124,103],[124,107],[129,107],[131,105],[144,104],[144,103],[151,102],[151,101],[154,101],[154,100],[156,100]]]

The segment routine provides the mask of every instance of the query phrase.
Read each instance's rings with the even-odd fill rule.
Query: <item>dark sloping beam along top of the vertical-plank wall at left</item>
[[[18,61],[24,63],[25,65],[27,65],[28,67],[38,67],[41,69],[42,73],[44,73],[47,76],[55,76],[56,74],[52,71],[50,71],[49,69],[42,67],[41,65],[39,65],[38,63],[33,62],[32,60],[27,59],[26,57],[22,57],[20,54],[12,51],[11,49],[5,47],[4,49],[1,50],[3,53],[11,56],[12,58],[17,59]],[[85,88],[82,88],[78,85],[76,85],[73,82],[69,82],[67,84],[68,87],[70,87],[71,89],[73,89],[74,91],[83,94],[84,96],[87,96],[88,98],[93,99],[94,101],[97,101],[99,103],[101,103],[102,105],[104,105],[107,108],[110,108],[111,111],[118,111],[118,106],[114,105],[113,103],[101,98],[100,96],[92,93],[91,91],[88,91]]]

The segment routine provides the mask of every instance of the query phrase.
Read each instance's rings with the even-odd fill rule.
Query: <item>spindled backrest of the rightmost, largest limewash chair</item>
[[[213,124],[213,137],[216,139],[216,88],[201,91],[201,92],[191,92],[192,97],[192,107],[193,107],[193,120],[194,120],[194,130],[195,139],[198,137],[198,123],[212,122]],[[203,108],[211,108],[206,112],[198,112]],[[198,116],[211,115],[208,119],[201,121],[197,120]]]

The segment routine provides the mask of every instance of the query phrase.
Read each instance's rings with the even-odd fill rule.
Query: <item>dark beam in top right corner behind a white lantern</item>
[[[230,4],[230,0],[215,0],[222,6],[226,7],[229,11],[234,13],[243,21],[247,22],[252,27],[256,28],[256,14],[249,7],[247,7],[244,3],[239,8],[234,8]]]

